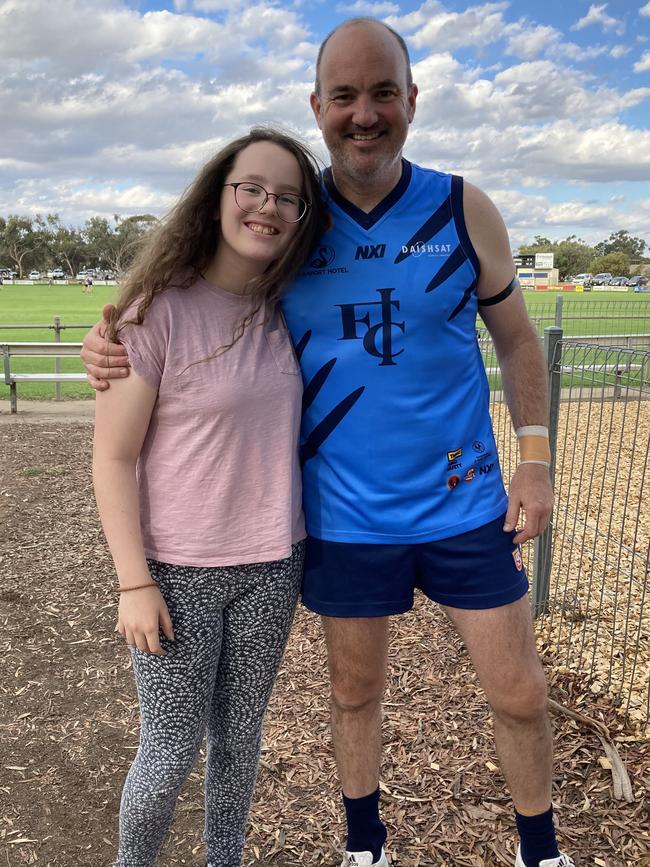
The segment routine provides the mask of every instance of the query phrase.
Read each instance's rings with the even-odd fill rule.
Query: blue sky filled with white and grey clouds
[[[463,174],[513,246],[650,246],[650,2],[0,0],[0,214],[163,214],[259,122],[326,152],[309,111],[320,40],[374,15],[419,85],[405,154]]]

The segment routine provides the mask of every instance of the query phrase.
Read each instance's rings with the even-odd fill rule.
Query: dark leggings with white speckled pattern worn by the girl
[[[239,867],[264,712],[291,628],[304,542],[286,560],[204,569],[149,561],[175,641],[131,651],[140,747],[122,792],[117,867],[152,867],[207,733],[209,867]]]

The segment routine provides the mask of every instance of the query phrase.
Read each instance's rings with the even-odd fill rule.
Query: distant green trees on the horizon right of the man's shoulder
[[[517,251],[526,253],[554,253],[554,264],[560,280],[576,274],[611,274],[627,277],[633,265],[644,262],[646,242],[630,235],[625,229],[612,232],[606,241],[590,247],[575,235],[564,241],[550,241],[536,235],[532,244],[523,244]]]

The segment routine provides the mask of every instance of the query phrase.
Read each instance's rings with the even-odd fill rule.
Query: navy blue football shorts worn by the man
[[[524,596],[528,579],[516,531],[504,516],[417,545],[357,545],[307,537],[303,604],[329,617],[382,617],[413,607],[417,587],[452,608],[498,608]]]

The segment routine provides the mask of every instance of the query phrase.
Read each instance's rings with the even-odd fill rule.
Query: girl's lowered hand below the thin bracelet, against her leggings
[[[160,630],[173,641],[174,629],[157,584],[120,594],[116,629],[131,647],[156,656],[166,655],[160,646]]]

